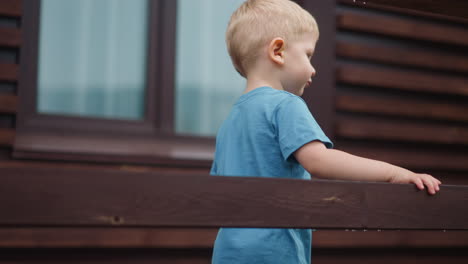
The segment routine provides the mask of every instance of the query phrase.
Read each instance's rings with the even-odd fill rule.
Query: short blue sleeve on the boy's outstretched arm
[[[283,100],[277,106],[272,122],[285,160],[312,141],[318,140],[327,148],[333,148],[333,143],[315,121],[304,100],[298,96],[290,96]]]

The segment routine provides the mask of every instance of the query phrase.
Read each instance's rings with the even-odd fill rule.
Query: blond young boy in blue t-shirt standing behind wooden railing
[[[218,132],[211,174],[313,175],[439,191],[430,175],[332,149],[299,97],[315,76],[310,59],[318,37],[314,18],[290,0],[247,0],[233,13],[226,42],[247,87]],[[222,228],[213,263],[310,263],[311,239],[310,229]]]

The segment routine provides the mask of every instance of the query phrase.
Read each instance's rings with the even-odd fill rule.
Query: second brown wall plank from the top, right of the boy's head
[[[468,72],[468,57],[437,53],[415,48],[394,48],[384,45],[338,40],[338,56],[405,66]]]

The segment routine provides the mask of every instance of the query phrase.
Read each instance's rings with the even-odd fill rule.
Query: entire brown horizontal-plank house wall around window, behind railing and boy
[[[466,25],[395,10],[363,10],[351,1],[337,4],[336,19],[337,147],[430,172],[444,183],[467,184]],[[21,1],[2,0],[0,167],[169,170],[12,159],[20,32]],[[0,227],[0,263],[209,263],[215,232]],[[467,248],[468,235],[455,231],[321,230],[314,234],[313,259],[326,264],[467,263]]]

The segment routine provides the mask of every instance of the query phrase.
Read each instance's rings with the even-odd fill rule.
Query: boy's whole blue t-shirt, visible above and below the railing
[[[302,98],[259,87],[239,98],[219,129],[211,174],[308,180],[292,154],[315,140],[333,147]],[[311,241],[310,229],[221,228],[212,263],[308,264]]]

